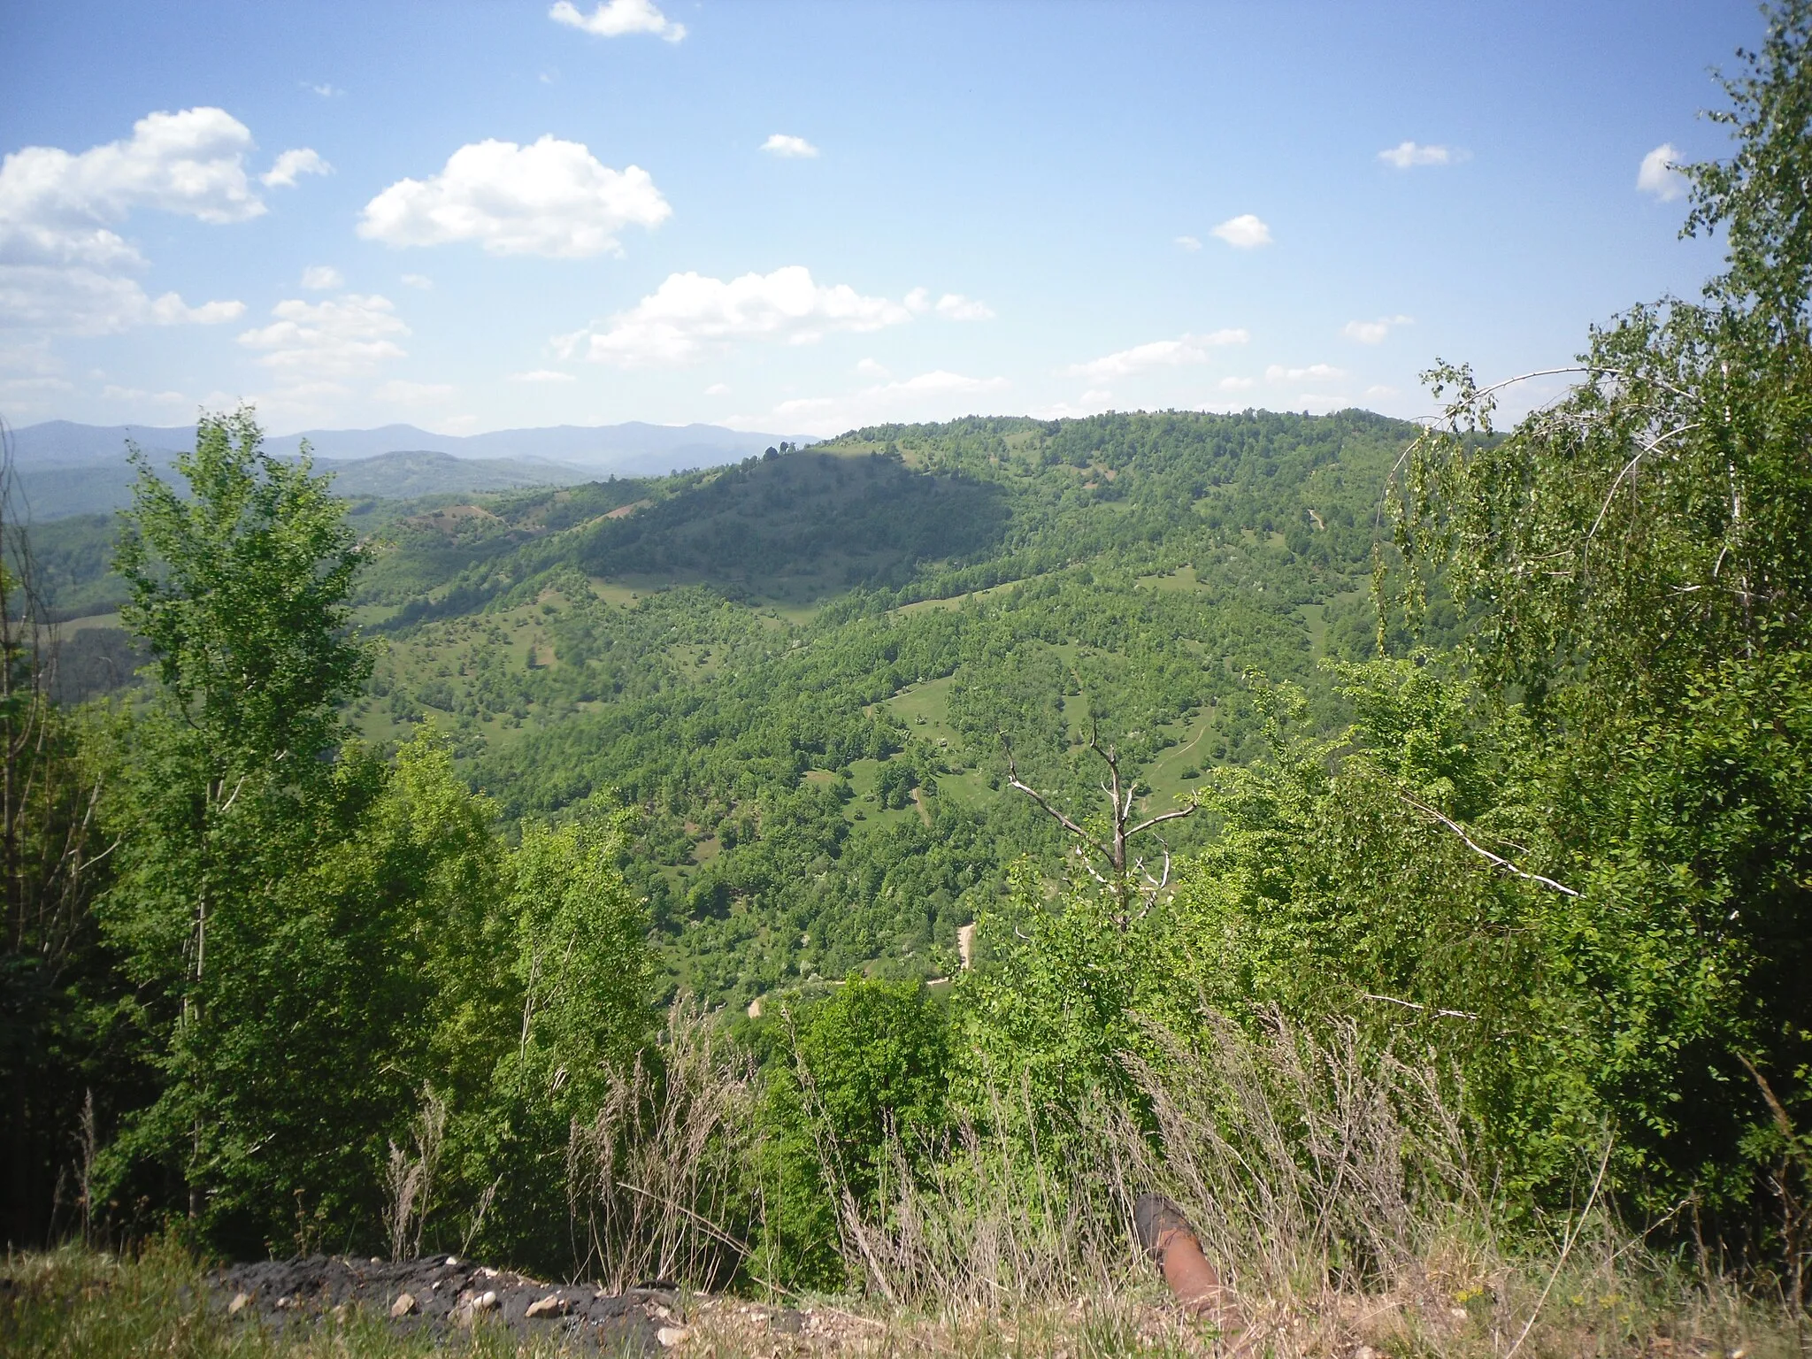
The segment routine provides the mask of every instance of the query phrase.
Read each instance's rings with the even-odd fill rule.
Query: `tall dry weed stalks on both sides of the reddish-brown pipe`
[[[1190,1038],[1151,1029],[1127,1055],[1142,1109],[1094,1102],[1058,1116],[1064,1154],[1035,1132],[1051,1111],[986,1091],[948,1149],[897,1142],[879,1207],[841,1200],[852,1276],[892,1303],[1024,1306],[1147,1281],[1132,1203],[1163,1192],[1236,1287],[1267,1296],[1421,1285],[1437,1247],[1486,1239],[1491,1200],[1466,1122],[1431,1065],[1368,1049],[1352,1026],[1319,1035],[1216,1015]],[[1009,1116],[1009,1113],[1013,1116]]]

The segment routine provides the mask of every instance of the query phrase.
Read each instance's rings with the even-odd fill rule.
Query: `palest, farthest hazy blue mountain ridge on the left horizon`
[[[125,440],[150,453],[192,448],[196,428],[74,424],[47,420],[13,431],[18,467],[112,462],[125,453]],[[797,435],[745,433],[716,424],[562,424],[545,429],[496,429],[487,435],[435,435],[413,424],[381,429],[308,429],[265,440],[272,453],[295,453],[303,440],[319,458],[371,458],[382,453],[446,453],[455,458],[540,458],[618,477],[665,475],[676,467],[716,467],[739,462],[781,440],[812,442]]]

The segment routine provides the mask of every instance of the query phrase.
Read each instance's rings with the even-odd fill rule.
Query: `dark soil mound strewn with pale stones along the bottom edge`
[[[685,1335],[670,1292],[605,1294],[585,1283],[542,1283],[451,1256],[272,1259],[216,1270],[210,1281],[216,1306],[279,1328],[308,1326],[357,1308],[388,1317],[402,1332],[451,1335],[475,1325],[500,1325],[522,1339],[605,1354],[660,1354]]]

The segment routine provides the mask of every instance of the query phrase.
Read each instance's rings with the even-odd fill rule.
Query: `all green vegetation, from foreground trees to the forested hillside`
[[[971,419],[353,507],[207,420],[114,585],[43,540],[140,689],[67,710],[5,611],[16,1230],[83,1127],[89,1227],[225,1250],[897,1299],[984,1221],[1084,1268],[1160,1185],[1270,1283],[1332,1158],[1334,1287],[1611,1196],[1799,1308],[1808,53],[1796,4],[1691,169],[1727,274],[1513,429],[1442,364],[1431,429]]]

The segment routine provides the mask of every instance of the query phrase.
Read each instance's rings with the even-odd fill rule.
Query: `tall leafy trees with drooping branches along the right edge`
[[[1770,13],[1716,114],[1736,156],[1687,169],[1687,230],[1729,232],[1705,299],[1595,332],[1578,386],[1502,439],[1479,437],[1493,391],[1437,368],[1448,420],[1388,496],[1410,620],[1437,574],[1479,614],[1464,656],[1504,752],[1484,803],[1442,808],[1517,861],[1524,899],[1499,1136],[1540,1161],[1567,1118],[1604,1120],[1638,1201],[1772,1194],[1788,1254],[1807,1169],[1769,1158],[1812,1114],[1808,42],[1812,7]],[[1357,920],[1377,931],[1383,904]]]

